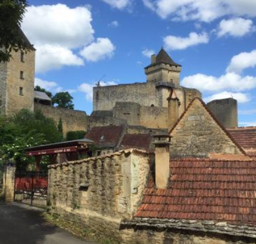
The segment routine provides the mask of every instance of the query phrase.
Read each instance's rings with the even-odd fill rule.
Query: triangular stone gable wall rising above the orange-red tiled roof
[[[171,131],[171,157],[208,154],[241,154],[241,150],[213,120],[200,100],[193,101],[177,126]]]

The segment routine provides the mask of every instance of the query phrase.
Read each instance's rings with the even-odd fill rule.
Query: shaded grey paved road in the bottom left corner
[[[0,244],[96,244],[44,221],[43,210],[0,202]]]

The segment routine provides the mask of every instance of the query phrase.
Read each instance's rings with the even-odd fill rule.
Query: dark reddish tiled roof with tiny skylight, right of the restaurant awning
[[[125,126],[101,126],[93,127],[86,134],[86,138],[93,140],[96,145],[101,147],[115,147],[122,139]]]

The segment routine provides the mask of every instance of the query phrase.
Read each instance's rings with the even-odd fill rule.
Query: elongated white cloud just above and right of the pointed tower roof
[[[209,37],[206,32],[202,32],[202,34],[191,32],[189,37],[175,37],[173,35],[164,37],[164,45],[168,50],[183,50],[194,45],[208,42]]]

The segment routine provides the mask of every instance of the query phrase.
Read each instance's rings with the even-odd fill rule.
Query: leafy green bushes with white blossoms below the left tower
[[[18,169],[26,169],[34,162],[32,157],[25,156],[26,148],[61,140],[51,118],[43,116],[40,111],[33,114],[25,109],[12,118],[0,116],[0,133],[0,164],[10,161],[16,163]],[[41,163],[47,161],[47,157],[43,157]]]

